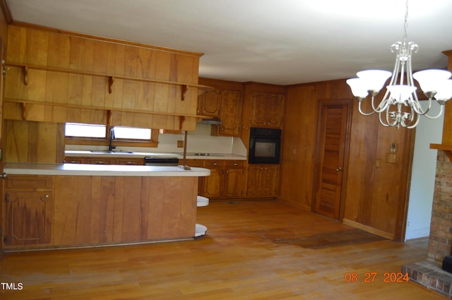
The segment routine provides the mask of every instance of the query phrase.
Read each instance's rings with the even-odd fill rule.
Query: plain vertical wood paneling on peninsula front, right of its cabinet
[[[54,176],[52,246],[190,238],[195,232],[197,181]]]

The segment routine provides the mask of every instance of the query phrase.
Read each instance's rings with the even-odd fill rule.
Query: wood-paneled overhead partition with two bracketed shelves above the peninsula
[[[194,130],[199,56],[8,25],[5,118]]]

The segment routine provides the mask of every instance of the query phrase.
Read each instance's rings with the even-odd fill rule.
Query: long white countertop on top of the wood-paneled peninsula
[[[7,175],[78,175],[78,176],[209,176],[210,170],[191,167],[151,167],[118,164],[30,164],[8,162]]]

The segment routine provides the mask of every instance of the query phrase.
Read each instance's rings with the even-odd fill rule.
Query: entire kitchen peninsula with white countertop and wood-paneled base
[[[210,170],[93,164],[4,166],[4,251],[192,239]]]

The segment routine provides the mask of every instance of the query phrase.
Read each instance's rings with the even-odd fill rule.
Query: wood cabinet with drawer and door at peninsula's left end
[[[8,176],[4,189],[5,248],[51,243],[52,188],[52,176]]]

